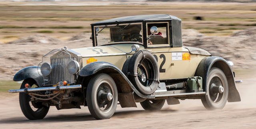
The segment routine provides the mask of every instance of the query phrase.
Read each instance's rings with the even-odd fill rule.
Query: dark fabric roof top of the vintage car
[[[168,14],[151,14],[151,15],[137,15],[137,16],[126,16],[120,18],[112,18],[108,20],[103,20],[100,22],[93,23],[96,24],[104,24],[104,23],[115,23],[115,22],[130,22],[130,21],[146,21],[146,20],[178,20],[181,21],[176,16],[168,15]]]

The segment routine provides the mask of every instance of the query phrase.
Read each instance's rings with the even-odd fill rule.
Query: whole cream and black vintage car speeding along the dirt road
[[[176,16],[127,16],[91,28],[93,47],[52,50],[38,66],[14,75],[14,81],[24,81],[9,92],[20,93],[28,119],[43,119],[50,106],[84,105],[96,119],[108,119],[118,104],[137,107],[140,102],[145,110],[160,110],[165,100],[173,105],[201,99],[206,109],[222,109],[226,101],[240,101],[233,63],[182,46]]]

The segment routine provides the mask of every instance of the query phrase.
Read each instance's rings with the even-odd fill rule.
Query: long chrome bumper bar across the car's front
[[[50,90],[61,90],[61,89],[78,89],[78,88],[82,88],[82,85],[39,87],[39,88],[25,88],[25,89],[10,89],[9,93],[34,92],[34,91],[50,91]]]

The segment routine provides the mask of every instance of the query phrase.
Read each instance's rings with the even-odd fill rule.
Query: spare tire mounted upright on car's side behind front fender
[[[159,84],[159,69],[156,58],[148,51],[137,51],[124,62],[122,72],[144,95],[156,91]]]

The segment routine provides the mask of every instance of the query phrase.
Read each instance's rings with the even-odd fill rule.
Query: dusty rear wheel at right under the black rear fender
[[[212,68],[207,77],[207,95],[202,96],[202,103],[206,109],[222,109],[228,99],[228,80],[219,68]]]

